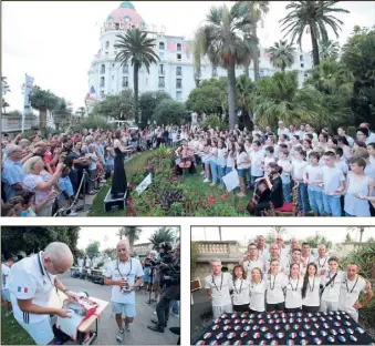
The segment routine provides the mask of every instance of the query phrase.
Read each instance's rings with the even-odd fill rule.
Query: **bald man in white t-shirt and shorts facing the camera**
[[[135,288],[142,285],[143,268],[139,260],[131,258],[127,240],[117,244],[117,258],[107,264],[104,272],[104,284],[112,286],[112,312],[116,315],[118,332],[116,340],[124,339],[123,314],[125,315],[126,332],[136,316]]]

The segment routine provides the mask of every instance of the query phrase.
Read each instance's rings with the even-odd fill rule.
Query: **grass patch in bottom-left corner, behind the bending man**
[[[13,314],[6,317],[1,307],[1,345],[35,345],[30,335],[14,319]]]

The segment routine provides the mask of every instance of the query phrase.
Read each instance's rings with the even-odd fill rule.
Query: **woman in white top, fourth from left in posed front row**
[[[287,285],[287,276],[279,273],[279,261],[272,260],[267,279],[265,306],[268,313],[282,313],[284,311],[284,288]]]

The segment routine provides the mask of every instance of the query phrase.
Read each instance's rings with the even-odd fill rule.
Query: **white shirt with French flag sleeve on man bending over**
[[[12,265],[9,273],[8,287],[13,306],[14,318],[27,324],[34,324],[50,318],[50,315],[23,313],[18,299],[32,299],[32,304],[49,306],[54,289],[55,275],[44,268],[41,253],[23,258]]]

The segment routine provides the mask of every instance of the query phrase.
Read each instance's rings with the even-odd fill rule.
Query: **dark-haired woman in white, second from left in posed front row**
[[[244,313],[249,311],[250,282],[247,279],[243,266],[238,264],[233,268],[233,311]]]

